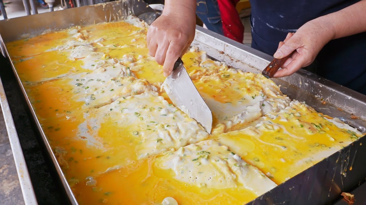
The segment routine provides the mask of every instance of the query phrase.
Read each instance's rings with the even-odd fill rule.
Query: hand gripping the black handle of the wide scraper
[[[177,59],[186,53],[195,34],[195,9],[176,8],[164,8],[163,14],[150,25],[146,36],[149,54],[163,65],[165,77],[171,74]]]

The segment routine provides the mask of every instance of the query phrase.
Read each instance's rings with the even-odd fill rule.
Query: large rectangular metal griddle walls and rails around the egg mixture
[[[4,56],[8,56],[4,43],[21,39],[23,34],[37,35],[45,30],[59,30],[75,25],[111,22],[122,20],[125,16],[131,14],[138,16],[144,13],[144,8],[137,7],[133,2],[133,0],[114,1],[0,21],[1,52]],[[272,57],[269,55],[202,27],[196,28],[193,45],[206,51],[214,59],[224,61],[237,69],[254,73],[261,72],[261,69],[266,67],[269,61],[272,60]],[[20,131],[25,132],[29,129],[30,135],[35,135],[34,137],[41,142],[41,145],[35,147],[47,153],[51,158],[51,167],[44,166],[43,169],[51,169],[51,173],[52,170],[55,170],[55,175],[58,175],[61,181],[63,191],[60,192],[61,194],[59,193],[55,196],[55,199],[67,196],[67,201],[58,203],[70,202],[71,204],[77,204],[74,194],[68,186],[60,166],[57,164],[55,155],[53,155],[52,149],[31,107],[25,89],[20,83],[14,65],[11,66],[16,81],[18,82],[17,86],[12,86],[9,89],[13,89],[14,92],[18,93],[19,91],[22,92],[23,97],[19,100],[19,94],[13,94],[9,90],[5,90],[4,92],[3,88],[7,88],[8,86],[3,86],[0,81],[0,98],[24,200],[26,204],[36,204],[37,201],[42,201],[40,199],[42,196],[39,194],[38,184],[35,184],[34,179],[30,178],[30,176],[36,177],[34,174],[34,165],[29,162],[30,152],[26,152],[25,150],[27,145],[19,142],[24,142],[24,139],[22,139],[24,138],[24,133],[20,133]],[[4,66],[1,67],[1,69],[6,68]],[[4,81],[5,78],[6,81],[9,81],[8,76],[11,76],[10,72],[10,70],[1,70],[1,80]],[[339,117],[352,127],[358,128],[361,132],[366,132],[365,95],[325,80],[306,70],[299,70],[290,77],[272,80],[277,85],[281,85],[281,91],[290,98],[305,101],[317,111],[331,117]],[[14,80],[12,83],[14,84]],[[15,99],[16,97],[18,99]],[[17,102],[20,107],[23,107],[26,112],[29,112],[31,123],[19,122],[23,118],[19,117],[20,108],[17,108],[13,102]],[[24,106],[25,104],[27,106]],[[351,114],[357,116],[357,118],[352,118]],[[27,115],[23,117],[26,118]],[[27,125],[24,125],[24,123]],[[353,187],[365,181],[365,156],[366,138],[362,137],[256,198],[249,204],[330,204],[339,198],[341,192],[351,190]],[[48,176],[48,178],[50,177],[52,178],[52,174]],[[58,183],[58,180],[51,180],[54,180],[55,184]],[[50,185],[45,184],[45,186]],[[51,189],[55,189],[54,186],[50,187]],[[66,194],[63,195],[62,193]]]

